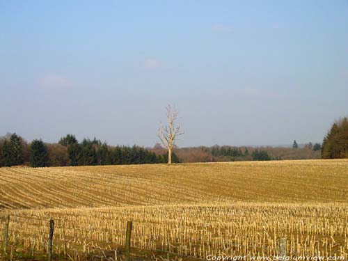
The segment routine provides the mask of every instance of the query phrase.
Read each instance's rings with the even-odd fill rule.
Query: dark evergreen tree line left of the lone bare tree
[[[0,166],[90,166],[117,164],[161,164],[168,154],[157,155],[143,147],[110,146],[94,138],[81,143],[74,135],[62,137],[58,143],[44,143],[35,139],[27,143],[17,134],[7,134],[0,139]],[[173,153],[173,162],[179,159]]]

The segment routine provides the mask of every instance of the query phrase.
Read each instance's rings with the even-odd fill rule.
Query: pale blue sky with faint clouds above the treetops
[[[348,1],[0,0],[0,134],[322,141],[348,114]]]

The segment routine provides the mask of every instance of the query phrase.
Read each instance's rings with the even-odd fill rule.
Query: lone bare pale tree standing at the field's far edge
[[[168,164],[172,164],[172,150],[175,147],[177,136],[184,134],[180,126],[176,126],[178,112],[171,105],[166,106],[168,125],[160,125],[158,137],[164,148],[168,150]]]

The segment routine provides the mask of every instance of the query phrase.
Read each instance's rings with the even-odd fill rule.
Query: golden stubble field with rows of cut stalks
[[[122,260],[128,220],[137,258],[268,257],[278,237],[288,255],[348,258],[348,160],[0,168],[0,182],[13,255],[45,254],[52,218],[67,260]]]

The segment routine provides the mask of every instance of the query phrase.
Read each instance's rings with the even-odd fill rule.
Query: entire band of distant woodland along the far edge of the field
[[[323,143],[286,147],[212,147],[174,148],[173,163],[217,161],[267,161],[285,159],[348,158],[348,120],[342,118],[331,126]],[[74,135],[62,137],[58,143],[33,140],[28,143],[17,134],[0,137],[0,166],[88,166],[117,164],[163,164],[168,150],[156,144],[154,148],[111,146],[100,140],[77,141]]]

